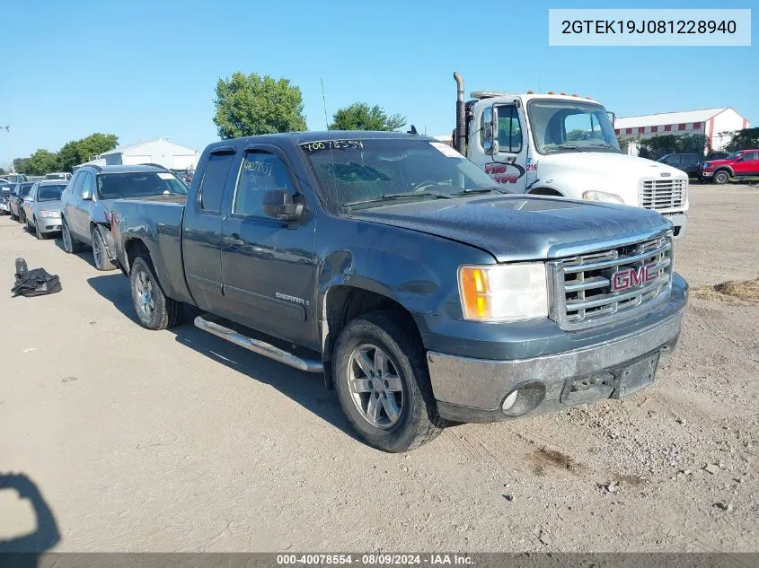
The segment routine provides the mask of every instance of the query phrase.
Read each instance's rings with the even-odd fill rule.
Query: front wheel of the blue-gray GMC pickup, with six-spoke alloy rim
[[[437,415],[424,348],[397,313],[349,322],[335,344],[332,373],[350,424],[378,450],[418,448],[446,426]]]

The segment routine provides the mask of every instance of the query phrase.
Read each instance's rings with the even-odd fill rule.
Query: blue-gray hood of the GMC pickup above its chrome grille
[[[499,262],[556,258],[572,245],[603,248],[604,240],[671,226],[660,214],[636,207],[523,195],[383,205],[349,217],[457,240]]]

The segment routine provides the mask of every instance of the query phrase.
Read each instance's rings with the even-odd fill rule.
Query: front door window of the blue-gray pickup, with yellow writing
[[[295,194],[285,163],[270,152],[257,150],[245,153],[234,191],[232,214],[266,218],[263,197],[267,191],[276,188],[287,189],[290,194]]]

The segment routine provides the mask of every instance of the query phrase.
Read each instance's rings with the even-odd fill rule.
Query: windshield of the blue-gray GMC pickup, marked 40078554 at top
[[[450,146],[428,140],[328,140],[300,144],[332,211],[387,205],[392,199],[463,196],[501,191]]]

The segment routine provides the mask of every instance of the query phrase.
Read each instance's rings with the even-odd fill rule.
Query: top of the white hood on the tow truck
[[[677,170],[665,163],[653,162],[645,158],[629,156],[612,152],[567,152],[554,153],[538,158],[538,177],[543,164],[551,164],[559,170],[596,171],[598,173],[612,172],[620,178],[658,178],[663,173],[673,178],[684,178],[683,171]],[[669,176],[665,176],[669,177]]]

